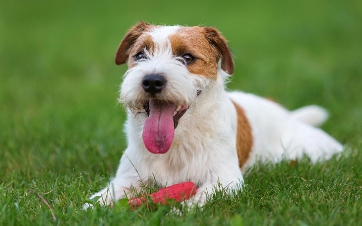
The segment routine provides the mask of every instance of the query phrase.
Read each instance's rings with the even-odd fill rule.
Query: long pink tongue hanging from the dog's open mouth
[[[143,126],[143,143],[152,153],[166,153],[174,140],[176,105],[150,100],[150,116]]]

